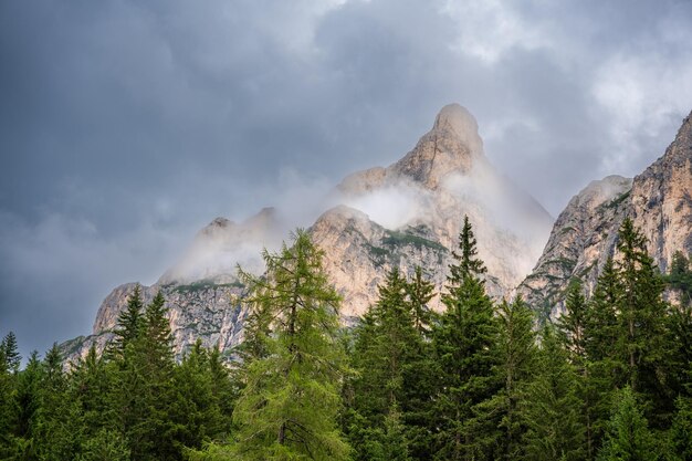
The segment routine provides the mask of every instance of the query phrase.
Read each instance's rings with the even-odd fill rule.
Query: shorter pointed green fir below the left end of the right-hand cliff
[[[541,337],[537,373],[521,405],[521,418],[527,427],[523,437],[524,459],[585,459],[580,407],[575,368],[553,326],[547,325]]]

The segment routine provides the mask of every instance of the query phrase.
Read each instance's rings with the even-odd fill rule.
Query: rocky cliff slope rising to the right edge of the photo
[[[626,217],[647,238],[649,253],[662,272],[675,251],[692,253],[692,114],[664,155],[641,175],[594,181],[569,201],[517,293],[549,315],[562,307],[573,276],[591,291],[604,263],[615,254]]]

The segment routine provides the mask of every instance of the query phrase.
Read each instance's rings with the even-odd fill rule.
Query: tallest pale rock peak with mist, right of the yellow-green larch
[[[486,286],[500,297],[528,273],[553,222],[489,164],[475,119],[455,104],[402,159],[354,174],[338,189],[350,208],[331,210],[311,231],[352,316],[376,301],[392,268],[411,274],[420,265],[442,290],[464,214],[487,265]]]

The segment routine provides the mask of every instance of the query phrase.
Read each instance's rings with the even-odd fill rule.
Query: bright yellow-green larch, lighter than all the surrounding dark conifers
[[[266,356],[248,364],[233,413],[234,442],[229,449],[211,447],[211,459],[229,451],[241,460],[348,458],[336,425],[346,371],[337,337],[339,296],[322,259],[310,235],[298,230],[291,247],[264,252],[264,277],[243,274],[250,315],[271,318],[269,335],[260,342]],[[265,333],[260,328],[256,334]]]

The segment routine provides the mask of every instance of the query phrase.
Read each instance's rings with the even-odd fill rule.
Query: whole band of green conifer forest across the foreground
[[[692,271],[659,272],[626,219],[594,290],[557,315],[491,298],[466,218],[442,293],[391,270],[355,324],[298,230],[239,270],[232,354],[177,359],[164,296],[65,363],[0,347],[2,460],[692,460]],[[440,295],[441,312],[428,307]]]

